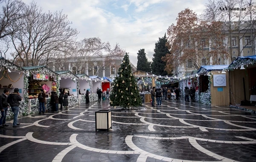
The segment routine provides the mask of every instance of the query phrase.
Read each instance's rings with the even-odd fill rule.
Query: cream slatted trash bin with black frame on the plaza
[[[95,112],[95,127],[96,131],[112,128],[111,110],[99,110]]]

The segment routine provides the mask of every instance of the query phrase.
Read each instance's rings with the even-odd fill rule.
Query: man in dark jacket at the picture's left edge
[[[7,103],[7,96],[9,95],[9,90],[3,90],[3,94],[0,95],[0,111],[1,111],[1,118],[0,118],[0,127],[7,127],[6,123],[6,115],[8,112],[9,104]]]

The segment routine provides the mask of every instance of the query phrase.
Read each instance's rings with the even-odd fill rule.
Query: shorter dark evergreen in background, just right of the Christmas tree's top
[[[137,53],[137,70],[142,70],[144,72],[151,72],[151,62],[146,58],[145,49],[140,49],[139,53]]]

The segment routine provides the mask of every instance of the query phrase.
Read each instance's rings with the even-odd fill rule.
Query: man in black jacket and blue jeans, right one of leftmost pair
[[[19,89],[15,88],[13,93],[10,93],[7,98],[7,102],[10,104],[12,112],[14,114],[13,117],[13,125],[12,127],[20,127],[20,123],[17,122],[18,114],[19,114],[19,106],[22,98],[19,93]]]

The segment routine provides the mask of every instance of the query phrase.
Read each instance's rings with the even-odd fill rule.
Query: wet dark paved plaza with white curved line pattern
[[[184,101],[112,111],[112,130],[95,132],[101,104],[18,119],[0,129],[0,162],[255,162],[256,115]]]

